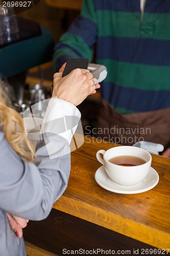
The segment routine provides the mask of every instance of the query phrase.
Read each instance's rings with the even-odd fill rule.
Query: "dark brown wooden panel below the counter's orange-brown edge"
[[[150,245],[55,209],[52,209],[46,220],[30,221],[24,229],[24,238],[26,241],[58,255],[63,255],[63,249],[103,249],[115,250],[115,252],[130,250],[132,255],[134,249],[139,252],[141,248],[154,249]],[[100,255],[100,253],[98,254]]]

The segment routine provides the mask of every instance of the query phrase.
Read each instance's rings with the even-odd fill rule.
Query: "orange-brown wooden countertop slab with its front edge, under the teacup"
[[[68,187],[53,208],[151,246],[168,249],[170,159],[152,155],[152,167],[159,174],[159,183],[153,189],[134,195],[116,194],[94,180],[95,171],[101,166],[96,152],[113,146],[87,137],[85,143],[71,153]]]

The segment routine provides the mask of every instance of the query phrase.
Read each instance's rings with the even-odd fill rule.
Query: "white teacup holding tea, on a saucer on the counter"
[[[111,158],[119,156],[122,158],[126,156],[138,157],[145,162],[140,165],[124,166],[109,161]],[[106,173],[114,182],[125,186],[135,185],[142,181],[149,173],[152,162],[152,156],[148,151],[133,146],[117,146],[107,151],[99,150],[96,153],[96,158],[104,165]]]

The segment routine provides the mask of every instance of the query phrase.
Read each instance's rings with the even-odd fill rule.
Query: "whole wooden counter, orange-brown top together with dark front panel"
[[[96,152],[113,146],[113,143],[87,137],[85,143],[71,153],[68,187],[45,220],[30,221],[23,230],[27,242],[49,251],[49,255],[63,255],[63,249],[71,254],[71,250],[81,248],[102,248],[115,254],[122,251],[120,255],[167,255],[170,159],[152,155],[152,167],[159,174],[159,183],[153,189],[141,194],[116,194],[94,180],[95,171],[101,166]],[[29,256],[32,255],[35,254]]]

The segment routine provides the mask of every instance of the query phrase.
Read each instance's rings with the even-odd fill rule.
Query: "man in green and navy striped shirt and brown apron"
[[[70,57],[91,61],[94,49],[96,63],[107,67],[98,127],[114,131],[117,143],[133,144],[137,136],[170,145],[169,28],[169,0],[84,0],[55,47],[56,70]],[[103,138],[112,141],[108,134]]]

